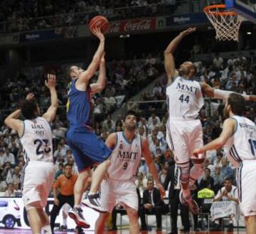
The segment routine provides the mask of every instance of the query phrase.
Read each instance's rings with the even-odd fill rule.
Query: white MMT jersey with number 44
[[[181,76],[166,87],[166,97],[170,118],[196,119],[204,105],[200,83]]]

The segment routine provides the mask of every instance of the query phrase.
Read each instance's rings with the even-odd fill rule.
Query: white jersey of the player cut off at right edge
[[[256,159],[256,126],[250,119],[242,116],[232,117],[237,122],[237,128],[225,147],[228,159],[234,166],[244,160]]]

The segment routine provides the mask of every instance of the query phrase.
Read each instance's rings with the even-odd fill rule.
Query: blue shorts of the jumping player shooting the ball
[[[68,129],[67,142],[80,172],[95,162],[105,161],[112,153],[105,143],[86,126],[71,126]]]

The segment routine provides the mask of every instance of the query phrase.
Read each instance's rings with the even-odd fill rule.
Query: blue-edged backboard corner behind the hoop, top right
[[[225,0],[228,9],[256,23],[256,0]]]

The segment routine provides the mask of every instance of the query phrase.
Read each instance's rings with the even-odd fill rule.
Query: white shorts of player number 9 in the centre
[[[101,205],[112,213],[114,206],[120,204],[138,210],[139,198],[134,181],[103,180],[101,184]]]

